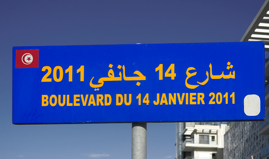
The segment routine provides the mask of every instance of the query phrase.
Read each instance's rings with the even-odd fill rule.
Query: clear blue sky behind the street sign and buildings
[[[12,46],[237,42],[265,0],[1,0],[0,159],[130,159],[132,124],[13,125]],[[147,158],[175,158],[175,123]]]

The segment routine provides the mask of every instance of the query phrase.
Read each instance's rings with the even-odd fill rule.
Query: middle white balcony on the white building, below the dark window
[[[218,141],[209,139],[186,139],[182,144],[183,152],[191,152],[194,148],[218,148]]]

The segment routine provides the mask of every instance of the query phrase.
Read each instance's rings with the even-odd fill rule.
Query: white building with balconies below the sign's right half
[[[177,123],[177,159],[223,159],[228,129],[221,122]]]

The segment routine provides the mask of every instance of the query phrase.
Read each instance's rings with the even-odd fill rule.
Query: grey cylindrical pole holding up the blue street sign
[[[132,123],[132,159],[146,159],[146,123]]]

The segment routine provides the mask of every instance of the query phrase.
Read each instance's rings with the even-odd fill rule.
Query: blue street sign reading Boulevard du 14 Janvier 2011
[[[265,118],[263,42],[13,47],[12,122]]]

